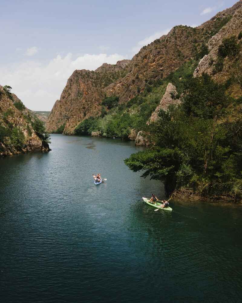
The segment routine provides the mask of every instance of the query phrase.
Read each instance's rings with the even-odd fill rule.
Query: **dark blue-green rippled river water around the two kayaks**
[[[51,140],[0,158],[0,302],[241,302],[241,205],[156,212],[141,198],[163,186],[123,163],[141,148]]]

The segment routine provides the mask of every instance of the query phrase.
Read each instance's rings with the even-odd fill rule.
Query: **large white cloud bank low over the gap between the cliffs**
[[[113,54],[85,54],[73,58],[57,55],[48,63],[23,61],[14,65],[0,66],[1,85],[10,85],[18,98],[32,110],[51,110],[54,102],[75,69],[94,70],[104,62],[115,64],[127,56]]]

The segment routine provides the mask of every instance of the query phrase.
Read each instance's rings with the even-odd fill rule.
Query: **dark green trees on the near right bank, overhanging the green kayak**
[[[242,102],[208,75],[183,81],[183,102],[146,126],[151,149],[125,160],[171,193],[242,198]]]

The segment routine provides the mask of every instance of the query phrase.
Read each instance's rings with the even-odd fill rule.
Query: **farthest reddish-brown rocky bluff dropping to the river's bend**
[[[100,115],[103,88],[128,72],[130,60],[115,65],[103,63],[95,71],[75,70],[67,81],[60,100],[57,100],[48,117],[46,128],[54,132],[64,125],[64,133],[72,134],[74,128],[90,116]]]

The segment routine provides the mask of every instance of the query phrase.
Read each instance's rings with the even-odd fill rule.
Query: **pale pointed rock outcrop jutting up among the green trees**
[[[159,111],[161,109],[166,111],[168,109],[169,105],[179,104],[180,99],[177,99],[176,95],[177,95],[176,87],[174,85],[172,85],[172,83],[168,83],[166,90],[165,90],[165,94],[163,95],[163,97],[160,101],[160,104],[157,106],[157,108],[155,108],[155,111],[152,113],[152,115],[147,123],[149,124],[150,122],[155,122],[158,119]]]

